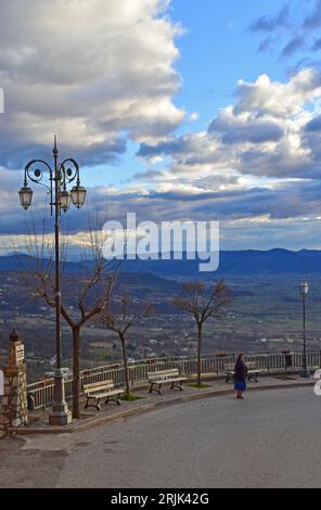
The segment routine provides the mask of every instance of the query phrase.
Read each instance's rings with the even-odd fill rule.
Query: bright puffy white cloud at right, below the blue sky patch
[[[230,168],[244,175],[288,178],[319,176],[318,143],[306,125],[320,111],[321,74],[304,69],[286,82],[267,75],[240,80],[236,101],[219,111],[208,131],[187,133],[154,145],[139,155],[171,156],[174,168],[188,174]],[[319,135],[318,135],[319,142]]]

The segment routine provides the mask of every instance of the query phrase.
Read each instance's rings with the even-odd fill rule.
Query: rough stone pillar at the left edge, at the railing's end
[[[3,367],[4,395],[1,399],[1,428],[4,431],[28,424],[27,375],[24,344],[13,330],[9,337],[8,364]]]

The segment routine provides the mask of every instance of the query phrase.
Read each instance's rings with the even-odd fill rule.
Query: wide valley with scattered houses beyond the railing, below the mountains
[[[1,257],[0,257],[1,260]],[[1,267],[1,264],[0,264]],[[77,272],[70,277],[77,279]],[[215,275],[213,275],[215,279]],[[124,288],[133,303],[151,301],[152,315],[139,319],[128,337],[128,359],[168,356],[193,356],[197,353],[195,323],[189,315],[175,308],[172,299],[180,294],[183,280],[171,275],[165,279],[147,272],[121,275],[114,302],[120,301]],[[203,353],[281,352],[300,350],[301,305],[298,295],[298,276],[288,272],[262,271],[255,281],[249,275],[227,275],[234,296],[231,309],[223,320],[210,319],[204,328]],[[310,275],[311,290],[307,302],[308,348],[321,348],[321,277]],[[72,284],[69,282],[69,284]],[[70,313],[75,298],[66,292]],[[20,271],[0,271],[0,358],[5,354],[8,332],[17,328],[25,339],[28,360],[28,381],[34,382],[51,372],[54,356],[54,308],[33,295]],[[68,326],[62,326],[64,365],[72,366],[72,337]],[[81,332],[81,368],[97,367],[121,360],[121,346],[115,333],[97,320]]]

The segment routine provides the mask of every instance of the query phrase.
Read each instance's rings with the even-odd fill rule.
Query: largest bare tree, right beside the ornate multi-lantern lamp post
[[[26,235],[29,260],[22,257],[22,277],[36,297],[55,307],[55,279],[53,276],[53,244],[50,238],[37,232],[35,224]],[[79,418],[80,391],[80,333],[85,324],[101,315],[107,306],[117,279],[119,263],[101,256],[101,231],[89,218],[86,244],[81,251],[81,273],[68,271],[68,235],[61,243],[61,280],[63,286],[61,314],[73,336],[73,418]],[[67,305],[73,299],[75,307]]]

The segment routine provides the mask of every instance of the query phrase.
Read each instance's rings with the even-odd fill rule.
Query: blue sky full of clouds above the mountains
[[[102,217],[219,219],[228,250],[321,247],[321,0],[0,8],[4,243],[30,217],[23,167],[56,132]],[[87,212],[64,221],[78,239]]]

